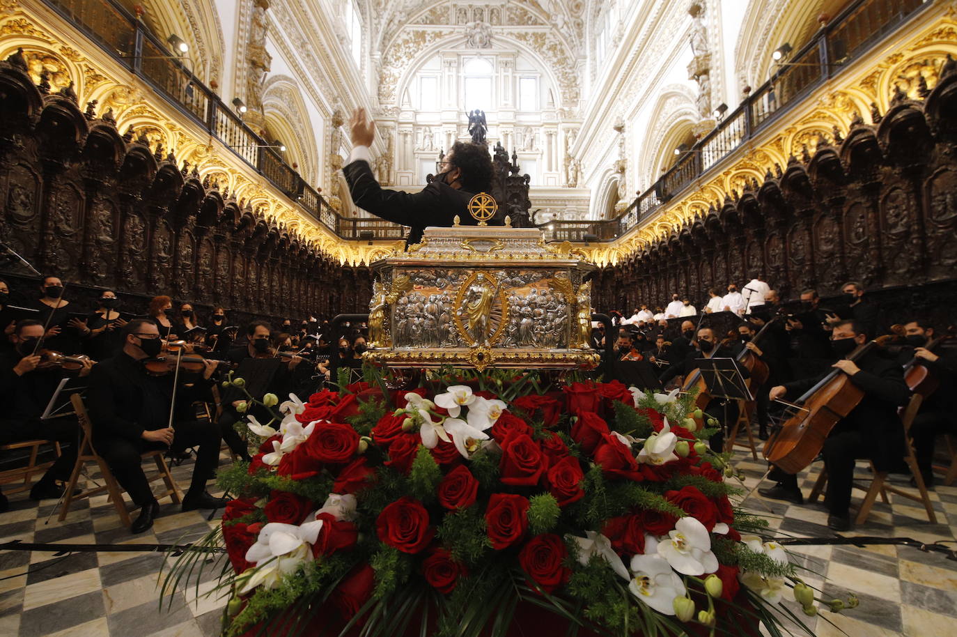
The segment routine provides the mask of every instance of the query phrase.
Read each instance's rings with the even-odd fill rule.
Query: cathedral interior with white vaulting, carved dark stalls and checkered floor
[[[291,330],[367,312],[371,264],[408,228],[353,203],[355,108],[376,124],[378,183],[409,193],[483,111],[492,224],[509,216],[593,264],[596,312],[673,294],[703,308],[707,290],[760,275],[783,301],[815,290],[824,306],[852,282],[878,333],[957,322],[946,0],[0,0],[0,306],[28,307],[43,273],[84,311],[110,290],[133,315],[167,296],[200,324],[223,308],[234,326]],[[844,535],[954,547],[950,413],[933,521],[884,494]],[[767,464],[733,454],[772,530],[827,535],[824,509],[762,498]],[[24,457],[0,450],[0,475]],[[173,478],[188,484],[191,462]],[[159,610],[155,552],[3,550],[184,542],[217,517],[170,509],[129,535],[106,495],[57,520],[56,500],[11,492],[21,483],[0,486],[0,634],[220,634],[227,599],[173,591]],[[793,550],[809,581],[860,600],[803,618],[812,634],[952,634],[954,559]]]

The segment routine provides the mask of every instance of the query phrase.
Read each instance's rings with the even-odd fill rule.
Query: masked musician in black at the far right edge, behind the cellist
[[[912,319],[904,324],[904,341],[898,362],[906,366],[912,362],[923,365],[937,385],[924,396],[921,411],[910,425],[910,435],[914,441],[914,455],[917,465],[924,476],[924,485],[931,489],[934,485],[934,472],[931,462],[934,457],[934,439],[938,434],[957,435],[957,421],[954,420],[954,390],[957,389],[957,353],[953,351],[932,352],[926,346],[935,340],[934,329],[923,319]],[[921,393],[915,389],[915,392]]]

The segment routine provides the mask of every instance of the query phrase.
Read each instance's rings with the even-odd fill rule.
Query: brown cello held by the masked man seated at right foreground
[[[846,359],[859,360],[893,338],[893,335],[879,336],[858,346]],[[851,376],[839,369],[832,370],[794,401],[802,410],[771,435],[765,444],[765,458],[793,474],[811,465],[835,424],[850,414],[862,398],[864,391],[851,382]]]

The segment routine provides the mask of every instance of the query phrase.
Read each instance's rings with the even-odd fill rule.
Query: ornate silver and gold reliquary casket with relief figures
[[[421,243],[372,263],[365,359],[443,365],[592,368],[593,265],[537,228],[426,228]]]

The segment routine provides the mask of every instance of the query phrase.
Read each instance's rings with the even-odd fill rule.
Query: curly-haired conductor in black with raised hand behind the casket
[[[455,216],[464,225],[477,223],[468,212],[469,200],[483,193],[492,181],[492,159],[483,144],[456,142],[438,162],[438,174],[419,193],[384,190],[372,173],[368,148],[375,138],[375,123],[358,108],[350,122],[352,152],[343,167],[349,194],[356,206],[393,223],[410,226],[407,243],[418,243],[427,226],[452,226]]]

